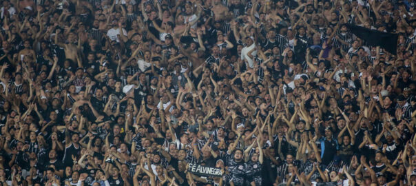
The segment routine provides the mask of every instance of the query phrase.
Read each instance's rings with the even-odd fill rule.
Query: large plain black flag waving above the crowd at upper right
[[[346,24],[346,27],[355,34],[355,36],[366,41],[369,45],[380,46],[391,54],[397,52],[398,34],[380,32],[378,30],[371,30],[362,26]]]

